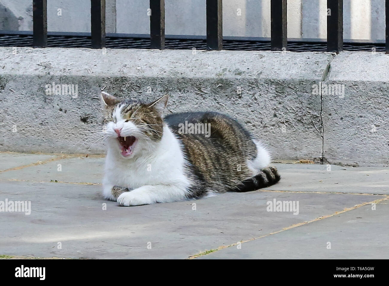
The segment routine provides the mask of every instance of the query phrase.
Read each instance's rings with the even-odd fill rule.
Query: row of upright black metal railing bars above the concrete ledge
[[[165,49],[165,0],[150,1],[150,47]],[[208,50],[223,49],[222,0],[207,0]],[[272,51],[287,50],[287,0],[271,0]],[[385,0],[385,51],[389,53],[389,0]],[[105,0],[91,0],[91,47],[105,47]],[[33,46],[47,47],[47,0],[33,0]],[[343,51],[343,0],[327,0],[327,51]]]

